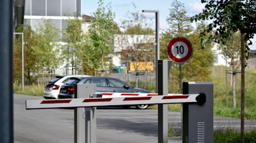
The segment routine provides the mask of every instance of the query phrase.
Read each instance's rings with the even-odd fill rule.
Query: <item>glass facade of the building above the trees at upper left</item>
[[[65,29],[65,17],[81,15],[81,0],[26,0],[24,21],[35,31],[43,18],[52,20],[52,24]]]

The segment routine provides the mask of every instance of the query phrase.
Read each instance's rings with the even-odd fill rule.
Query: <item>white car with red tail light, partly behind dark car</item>
[[[67,82],[70,77],[90,77],[90,75],[58,75],[55,79],[49,81],[44,87],[45,99],[57,99],[60,93],[60,87]]]

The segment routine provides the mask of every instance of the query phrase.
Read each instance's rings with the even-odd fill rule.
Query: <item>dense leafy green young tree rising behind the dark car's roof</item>
[[[86,41],[86,51],[90,53],[90,59],[86,58],[88,68],[107,68],[108,55],[114,49],[113,37],[118,32],[114,29],[115,13],[111,11],[110,3],[104,6],[103,0],[98,2],[99,8],[93,13],[91,25],[89,26],[88,40]]]

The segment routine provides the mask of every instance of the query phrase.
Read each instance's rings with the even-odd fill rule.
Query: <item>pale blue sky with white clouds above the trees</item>
[[[134,5],[137,11],[142,10],[158,10],[159,11],[159,29],[168,29],[168,23],[166,19],[170,14],[170,8],[172,8],[172,3],[175,0],[104,0],[104,4],[111,3],[112,12],[115,13],[115,22],[120,24],[120,20],[127,19],[127,13],[129,11],[134,12]],[[179,0],[184,4],[185,9],[189,17],[202,12],[204,4],[201,0]],[[97,0],[82,0],[82,14],[92,16],[98,8]],[[143,13],[148,19],[155,20],[155,13]],[[193,24],[195,27],[195,24]],[[256,38],[253,38],[253,45],[250,46],[251,49],[256,50]]]

